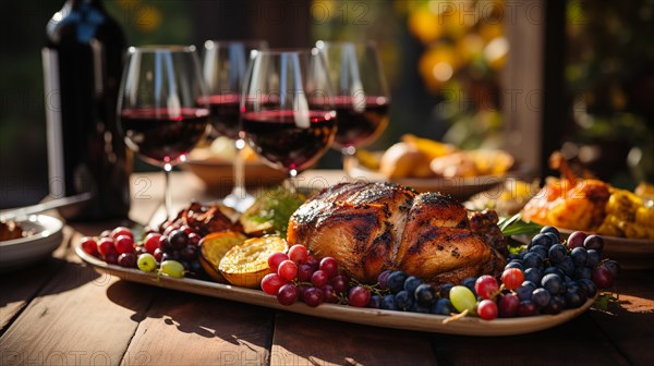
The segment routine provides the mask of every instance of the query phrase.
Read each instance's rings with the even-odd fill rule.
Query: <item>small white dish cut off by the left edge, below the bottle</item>
[[[34,233],[0,242],[0,271],[15,269],[50,255],[63,239],[63,222],[53,217],[32,215],[17,223],[23,230]]]

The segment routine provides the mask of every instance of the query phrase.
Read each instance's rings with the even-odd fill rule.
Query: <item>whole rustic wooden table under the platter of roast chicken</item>
[[[332,183],[339,172],[305,178]],[[158,209],[158,174],[133,176],[132,218]],[[208,199],[175,174],[174,199]],[[215,197],[214,197],[215,198]],[[98,274],[71,241],[118,222],[71,223],[52,257],[2,273],[0,365],[653,365],[654,270],[622,271],[619,307],[525,335],[475,338],[330,321]]]

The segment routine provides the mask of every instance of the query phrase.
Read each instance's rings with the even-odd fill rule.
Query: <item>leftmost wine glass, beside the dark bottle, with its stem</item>
[[[207,90],[194,46],[131,47],[118,115],[124,142],[143,160],[164,168],[165,206],[172,212],[170,171],[208,130]]]

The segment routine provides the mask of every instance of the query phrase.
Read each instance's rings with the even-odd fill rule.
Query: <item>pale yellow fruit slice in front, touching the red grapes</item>
[[[270,273],[268,257],[287,251],[287,241],[279,236],[249,239],[225,254],[218,270],[233,285],[258,289],[264,276]]]

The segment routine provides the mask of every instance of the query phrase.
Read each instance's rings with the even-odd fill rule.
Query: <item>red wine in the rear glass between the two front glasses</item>
[[[217,133],[214,137],[227,136],[238,139],[241,130],[241,97],[238,94],[213,95],[206,98],[206,101],[211,112],[209,120]]]

